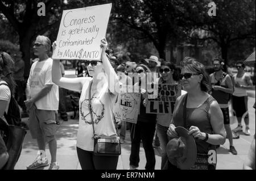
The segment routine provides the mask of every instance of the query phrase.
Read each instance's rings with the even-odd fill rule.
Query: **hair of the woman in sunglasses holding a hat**
[[[183,61],[180,62],[182,68],[186,68],[194,73],[199,73],[203,75],[203,79],[200,83],[202,91],[208,92],[210,90],[209,74],[205,71],[205,67],[196,58],[184,57]]]

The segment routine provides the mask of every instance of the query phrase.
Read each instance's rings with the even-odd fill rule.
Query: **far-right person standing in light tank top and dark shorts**
[[[254,89],[253,82],[249,75],[244,71],[245,64],[242,61],[236,63],[236,68],[238,70],[237,74],[232,77],[234,92],[232,96],[233,109],[236,112],[236,117],[238,121],[238,126],[233,131],[242,132],[242,117],[245,120],[245,135],[250,135],[249,129],[249,113],[247,109],[248,96],[246,90]]]

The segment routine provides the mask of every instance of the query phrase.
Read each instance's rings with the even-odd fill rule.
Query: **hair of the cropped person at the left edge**
[[[0,57],[0,78],[9,85],[11,94],[14,95],[16,83],[13,75],[11,75],[11,68],[13,66],[14,61],[11,56],[6,52],[2,52]]]

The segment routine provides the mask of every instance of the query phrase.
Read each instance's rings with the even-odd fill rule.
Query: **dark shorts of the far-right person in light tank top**
[[[233,110],[236,112],[237,117],[242,117],[247,112],[247,96],[232,96]]]

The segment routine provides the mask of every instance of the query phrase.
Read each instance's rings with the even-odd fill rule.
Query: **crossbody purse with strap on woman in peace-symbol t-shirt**
[[[120,144],[120,137],[119,132],[117,129],[117,123],[114,117],[114,124],[115,130],[117,132],[116,136],[105,136],[105,135],[96,135],[94,131],[94,123],[93,123],[93,116],[92,116],[92,98],[91,98],[91,89],[92,89],[92,81],[89,83],[89,112],[90,118],[92,120],[92,127],[93,127],[93,140],[94,140],[94,148],[93,153],[94,155],[98,156],[118,156],[121,154],[121,144]]]

